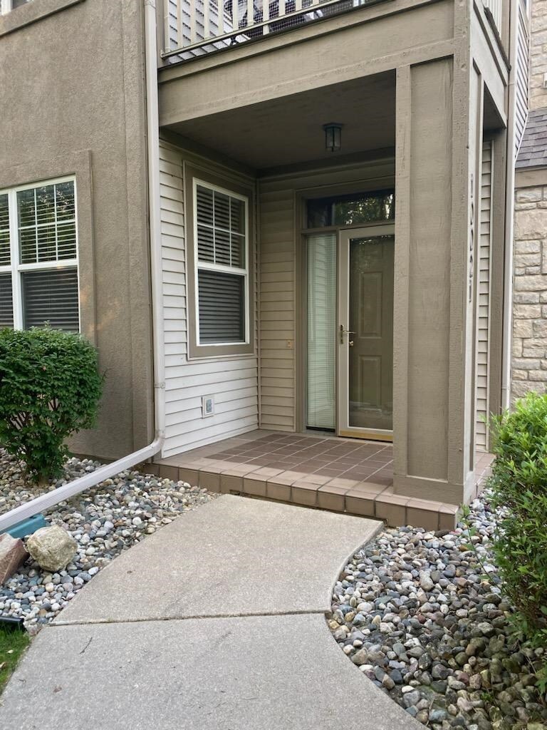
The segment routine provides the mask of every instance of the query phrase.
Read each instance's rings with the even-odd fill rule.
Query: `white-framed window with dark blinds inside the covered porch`
[[[198,345],[247,342],[247,206],[243,196],[194,181]]]

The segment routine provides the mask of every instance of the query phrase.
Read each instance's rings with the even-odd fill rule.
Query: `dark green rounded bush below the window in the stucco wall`
[[[96,350],[79,335],[0,330],[0,445],[37,480],[60,475],[65,439],[93,427],[101,388]]]

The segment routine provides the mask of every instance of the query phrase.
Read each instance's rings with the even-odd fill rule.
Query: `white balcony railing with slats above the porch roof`
[[[163,57],[181,60],[382,0],[163,1]]]

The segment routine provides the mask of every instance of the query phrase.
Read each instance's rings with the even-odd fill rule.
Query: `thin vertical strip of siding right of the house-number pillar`
[[[481,172],[481,227],[478,250],[476,448],[488,450],[484,421],[489,402],[490,271],[492,210],[492,142],[484,142]]]

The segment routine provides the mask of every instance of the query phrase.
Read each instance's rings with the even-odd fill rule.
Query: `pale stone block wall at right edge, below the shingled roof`
[[[517,188],[511,396],[547,391],[547,185]]]

